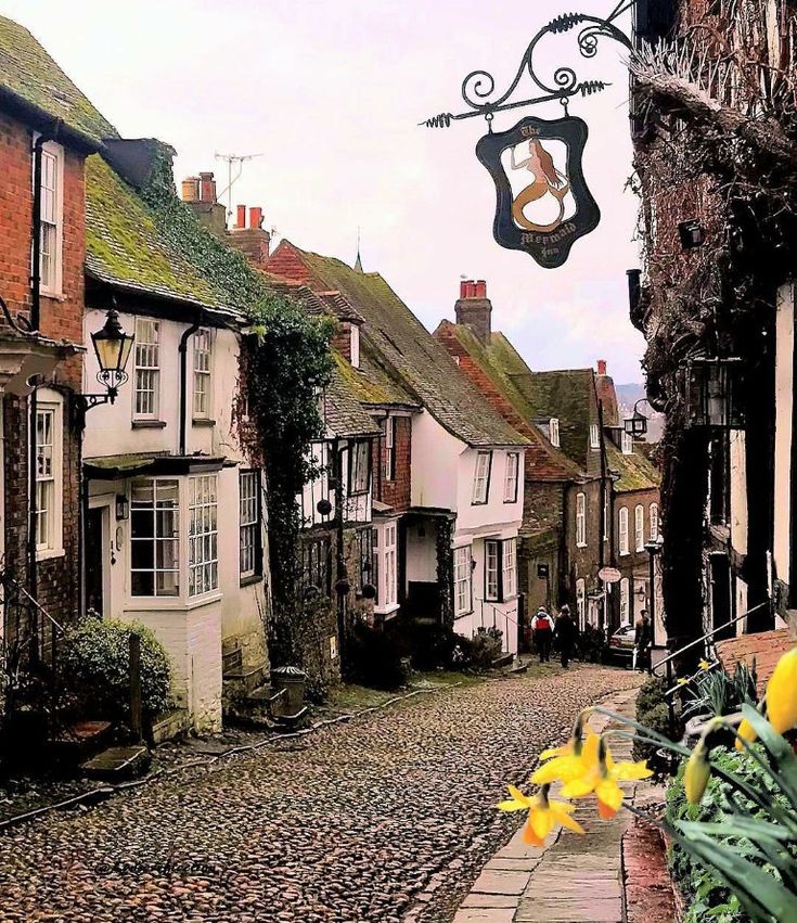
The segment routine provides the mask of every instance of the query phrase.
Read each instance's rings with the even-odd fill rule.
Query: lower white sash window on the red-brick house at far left
[[[36,397],[36,557],[57,557],[64,553],[64,399],[51,388],[41,388]],[[39,447],[39,418],[50,421],[50,441]],[[48,458],[49,456],[49,458]],[[48,464],[49,462],[49,464]],[[49,489],[48,489],[49,487]],[[49,495],[47,508],[42,492]],[[40,524],[44,535],[40,539]]]

